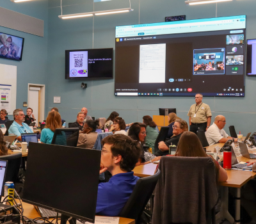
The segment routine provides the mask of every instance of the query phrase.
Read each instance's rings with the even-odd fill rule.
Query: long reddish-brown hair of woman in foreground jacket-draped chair
[[[191,131],[185,131],[180,136],[175,155],[186,157],[207,157],[198,136]]]

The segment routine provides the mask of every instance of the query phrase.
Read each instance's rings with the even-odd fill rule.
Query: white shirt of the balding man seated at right
[[[205,132],[205,137],[209,145],[214,145],[218,143],[221,138],[228,138],[228,134],[224,131],[224,129],[219,129],[218,126],[213,123]]]

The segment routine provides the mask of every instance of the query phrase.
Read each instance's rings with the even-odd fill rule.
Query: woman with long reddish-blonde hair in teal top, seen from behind
[[[60,113],[56,111],[50,111],[46,118],[45,128],[41,132],[41,143],[51,144],[55,129],[61,128]]]

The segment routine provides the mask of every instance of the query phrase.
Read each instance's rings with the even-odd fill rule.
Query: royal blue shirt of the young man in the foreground
[[[109,182],[99,184],[96,213],[100,216],[118,216],[131,196],[139,177],[133,172],[118,173]]]

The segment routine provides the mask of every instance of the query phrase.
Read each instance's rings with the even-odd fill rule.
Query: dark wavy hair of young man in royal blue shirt
[[[132,140],[124,134],[109,135],[101,141],[102,145],[109,144],[113,156],[122,156],[120,161],[120,169],[131,172],[135,164],[138,163],[141,148],[137,141]]]

